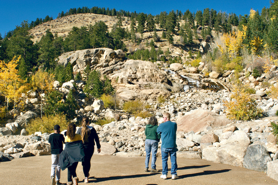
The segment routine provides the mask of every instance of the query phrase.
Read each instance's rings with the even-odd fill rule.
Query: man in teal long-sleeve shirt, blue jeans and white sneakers
[[[170,114],[165,112],[163,114],[163,121],[157,127],[157,133],[161,134],[161,157],[162,157],[162,175],[160,178],[167,179],[168,173],[168,156],[171,160],[171,174],[172,179],[178,179],[177,175],[177,144],[176,144],[176,132],[177,123],[170,121]]]

